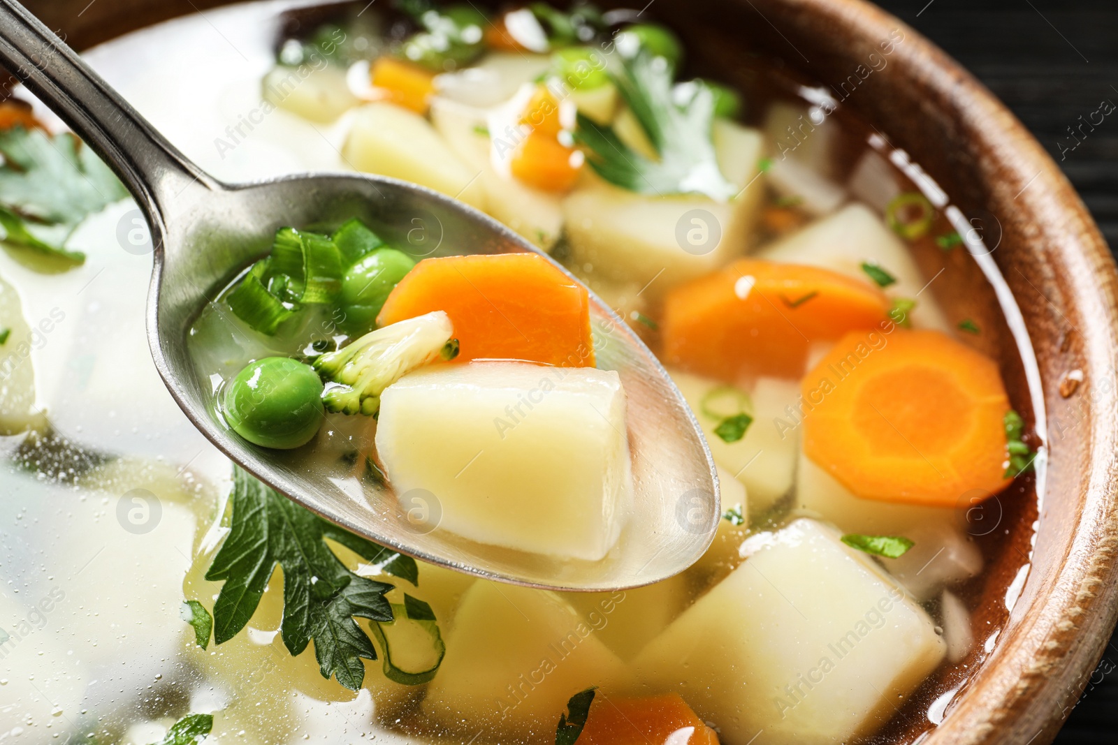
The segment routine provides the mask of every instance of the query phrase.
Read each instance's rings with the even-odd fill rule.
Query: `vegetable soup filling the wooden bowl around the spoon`
[[[36,201],[19,147],[73,143],[38,128],[59,130],[41,107],[35,118],[6,105],[0,741],[749,745],[889,742],[942,720],[1021,593],[1027,556],[1010,541],[1032,529],[1043,476],[1031,430],[1043,411],[1021,394],[1035,363],[988,256],[991,226],[853,118],[853,92],[764,60],[697,78],[674,35],[645,21],[589,7],[486,18],[470,6],[250,3],[87,55],[216,176],[415,181],[509,225],[641,334],[702,426],[724,514],[698,564],[624,592],[417,563],[235,471],[151,362],[151,245],[135,204],[87,155],[58,176],[80,184],[66,200]],[[900,30],[882,40],[881,59],[902,42]],[[293,228],[341,245],[342,226]],[[314,365],[329,389],[315,360],[420,317],[400,311],[405,280],[439,259],[414,238],[378,245],[404,257],[390,281],[373,273],[383,293],[325,300],[265,283],[284,306],[276,323],[238,312],[229,296],[248,275],[230,277],[190,338],[215,414],[259,360]],[[433,287],[423,313],[449,314],[464,334],[462,293]],[[512,326],[514,294],[494,295]],[[994,296],[1008,303],[1001,314],[980,302]],[[402,402],[389,434],[371,403],[347,413],[328,401],[321,424],[265,445],[378,486],[461,474],[468,428],[484,416],[477,431],[491,434],[482,404],[440,388],[495,364],[468,360],[512,357],[541,380],[600,374],[563,334],[531,336],[500,355],[474,355],[463,336],[370,393]],[[550,442],[590,437],[570,423],[574,404],[548,414],[562,422],[551,429],[515,409],[534,383],[501,374],[511,411],[493,418],[496,440],[524,422]],[[406,471],[416,438],[426,450]],[[539,467],[525,466],[529,480],[534,458],[522,458]],[[557,462],[549,486],[577,470],[563,466],[572,456]],[[563,507],[560,489],[532,498],[551,502],[527,515]],[[558,509],[532,539],[512,522],[502,535],[491,519],[454,529],[594,560],[609,546],[574,522],[585,513]],[[979,602],[993,596],[1004,601]]]

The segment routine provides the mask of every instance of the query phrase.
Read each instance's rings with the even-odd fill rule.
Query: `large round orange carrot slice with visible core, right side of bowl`
[[[1010,484],[997,365],[946,334],[850,333],[803,394],[804,453],[859,497],[954,507]]]

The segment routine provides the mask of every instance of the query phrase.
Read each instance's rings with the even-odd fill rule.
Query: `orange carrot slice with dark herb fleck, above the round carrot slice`
[[[664,300],[664,357],[737,381],[799,378],[813,342],[885,319],[889,298],[869,283],[818,267],[740,259],[676,287]]]

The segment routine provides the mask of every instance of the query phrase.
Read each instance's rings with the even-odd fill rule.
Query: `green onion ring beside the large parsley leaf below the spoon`
[[[392,603],[392,619],[369,624],[383,652],[385,677],[405,686],[430,681],[446,653],[430,605],[405,593],[404,603]]]

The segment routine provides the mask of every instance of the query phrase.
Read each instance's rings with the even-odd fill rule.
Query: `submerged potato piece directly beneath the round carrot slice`
[[[913,525],[955,519],[955,510],[946,507],[920,507],[855,497],[803,453],[796,469],[795,507],[834,523],[845,533],[864,535],[904,535],[904,531]]]

